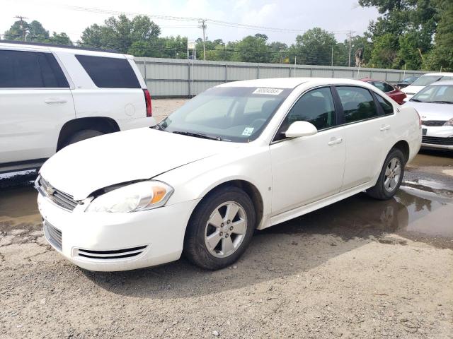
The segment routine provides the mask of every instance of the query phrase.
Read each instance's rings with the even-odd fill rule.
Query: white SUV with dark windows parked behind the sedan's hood
[[[39,167],[76,141],[154,124],[134,57],[0,42],[0,172]]]

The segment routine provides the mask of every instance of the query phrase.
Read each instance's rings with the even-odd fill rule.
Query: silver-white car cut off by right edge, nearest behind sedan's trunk
[[[453,81],[426,86],[404,106],[417,109],[422,120],[422,147],[453,150]]]

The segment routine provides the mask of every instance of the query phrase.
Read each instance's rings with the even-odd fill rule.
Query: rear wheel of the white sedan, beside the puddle
[[[394,196],[403,181],[405,165],[406,160],[401,150],[392,148],[384,161],[376,185],[367,189],[367,194],[379,200],[388,200]]]

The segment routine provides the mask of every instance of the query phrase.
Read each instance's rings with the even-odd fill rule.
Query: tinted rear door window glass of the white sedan
[[[338,86],[337,91],[343,105],[346,124],[378,116],[376,104],[366,88]]]

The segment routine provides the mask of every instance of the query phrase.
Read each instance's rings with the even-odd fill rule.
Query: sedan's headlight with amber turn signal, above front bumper
[[[95,198],[86,212],[126,213],[164,206],[173,187],[164,182],[137,182],[114,189]]]

